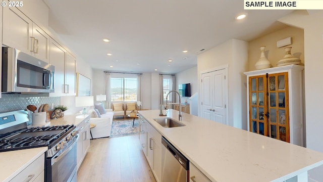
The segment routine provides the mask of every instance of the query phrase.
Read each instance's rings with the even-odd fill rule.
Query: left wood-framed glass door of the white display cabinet
[[[249,77],[249,98],[249,130],[267,136],[265,75]]]

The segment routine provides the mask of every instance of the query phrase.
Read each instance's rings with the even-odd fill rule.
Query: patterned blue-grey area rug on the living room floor
[[[132,127],[133,119],[113,120],[110,138],[129,136],[138,134],[138,119],[135,119],[135,124]]]

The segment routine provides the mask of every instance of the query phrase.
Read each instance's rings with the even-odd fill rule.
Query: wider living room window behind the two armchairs
[[[111,101],[137,101],[137,78],[111,78]]]

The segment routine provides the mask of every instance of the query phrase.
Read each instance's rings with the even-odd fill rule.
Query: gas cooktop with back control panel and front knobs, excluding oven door
[[[0,114],[0,152],[48,147],[51,157],[76,138],[76,127],[72,125],[31,127],[27,111]]]

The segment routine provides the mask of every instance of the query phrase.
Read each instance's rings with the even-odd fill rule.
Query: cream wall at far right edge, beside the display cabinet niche
[[[308,14],[309,13],[309,14]],[[279,21],[304,29],[306,148],[323,152],[323,11],[296,11]],[[322,179],[320,166],[308,172],[309,178]]]

